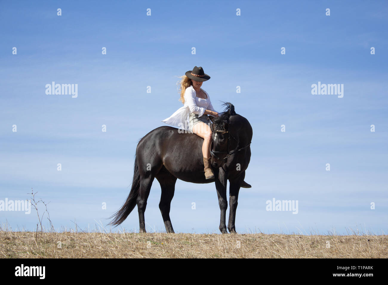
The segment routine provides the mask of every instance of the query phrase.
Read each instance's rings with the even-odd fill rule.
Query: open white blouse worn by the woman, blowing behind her
[[[206,110],[217,112],[213,108],[213,105],[211,105],[209,94],[202,88],[201,90],[206,94],[206,99],[197,97],[197,93],[193,86],[187,87],[185,90],[185,104],[183,107],[180,107],[174,114],[167,119],[164,119],[162,122],[188,131],[190,113],[197,114],[198,117],[201,117]]]

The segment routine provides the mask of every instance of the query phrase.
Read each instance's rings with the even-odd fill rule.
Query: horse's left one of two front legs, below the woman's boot
[[[228,201],[226,197],[227,173],[225,173],[222,168],[218,168],[214,171],[214,177],[217,189],[218,204],[220,205],[221,210],[219,229],[221,233],[228,233],[226,229],[226,209],[228,207]]]

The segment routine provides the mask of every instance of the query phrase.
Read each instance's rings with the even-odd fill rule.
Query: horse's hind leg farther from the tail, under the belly
[[[174,197],[175,182],[177,182],[177,178],[172,176],[170,173],[166,171],[160,171],[156,176],[156,179],[159,181],[160,187],[162,189],[160,202],[159,202],[159,209],[160,209],[160,212],[162,213],[166,231],[168,233],[174,233],[174,230],[171,225],[171,219],[170,219],[170,206],[171,206],[171,200]]]

